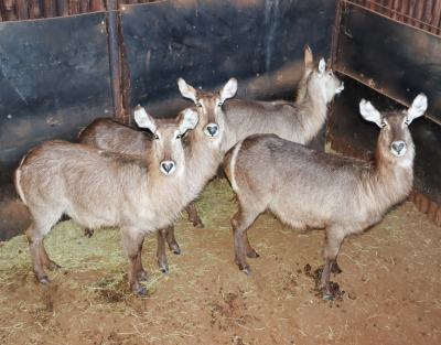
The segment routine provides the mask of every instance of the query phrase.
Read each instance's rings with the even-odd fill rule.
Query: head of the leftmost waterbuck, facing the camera
[[[183,110],[175,119],[154,120],[138,106],[135,109],[135,120],[140,128],[148,128],[153,133],[152,161],[159,164],[164,175],[184,169],[184,148],[182,137],[197,125],[197,112],[192,109]]]

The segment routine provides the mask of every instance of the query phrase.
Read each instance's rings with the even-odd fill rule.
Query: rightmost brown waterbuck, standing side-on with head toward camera
[[[294,228],[324,228],[323,297],[332,300],[331,272],[340,272],[336,258],[344,238],[381,220],[405,201],[413,181],[415,148],[408,126],[426,112],[419,95],[408,111],[378,112],[362,100],[364,119],[381,128],[372,161],[311,150],[275,134],[255,134],[237,143],[224,159],[224,169],[239,201],[233,218],[236,262],[245,273],[245,259],[258,255],[247,228],[266,209]]]

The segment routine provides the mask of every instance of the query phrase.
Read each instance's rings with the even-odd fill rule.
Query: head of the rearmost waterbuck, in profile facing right
[[[318,97],[318,94],[322,93],[327,104],[334,95],[343,91],[343,82],[338,79],[331,67],[326,66],[323,57],[318,64],[313,62],[312,51],[308,45],[304,46],[304,64],[305,69],[299,84],[299,98],[306,95],[308,88],[313,94],[310,95],[312,97]]]

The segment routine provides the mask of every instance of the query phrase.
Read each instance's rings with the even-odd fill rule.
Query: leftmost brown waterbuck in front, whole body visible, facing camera
[[[171,225],[189,203],[186,161],[193,141],[184,143],[182,137],[198,118],[196,111],[185,109],[176,119],[160,122],[138,107],[135,119],[154,134],[148,155],[52,140],[32,149],[14,172],[15,188],[33,218],[26,237],[41,283],[49,284],[44,268],[58,268],[43,239],[66,214],[92,229],[119,227],[129,283],[133,292],[144,293],[139,283],[148,279],[141,265],[143,238]]]

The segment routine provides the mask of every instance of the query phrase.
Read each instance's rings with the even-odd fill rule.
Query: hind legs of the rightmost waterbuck
[[[256,217],[259,215],[259,212],[244,212],[240,207],[239,212],[233,217],[233,236],[235,238],[235,254],[236,254],[236,263],[245,274],[249,276],[251,272],[251,267],[248,265],[245,259],[245,254],[251,257],[256,257],[256,251],[249,245],[248,238],[244,235],[246,234],[247,228],[255,222]],[[246,235],[245,235],[246,236]],[[249,247],[249,248],[248,248]]]

